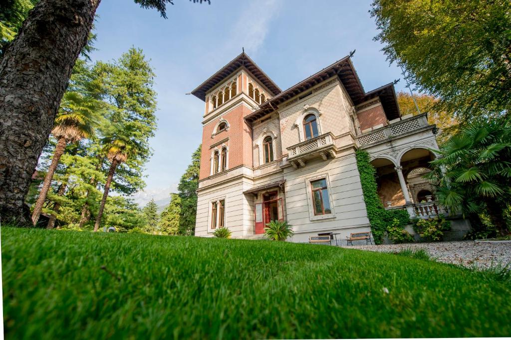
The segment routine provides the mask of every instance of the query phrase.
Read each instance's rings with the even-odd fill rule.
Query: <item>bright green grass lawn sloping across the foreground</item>
[[[270,241],[1,237],[7,339],[511,335],[509,280],[427,260]]]

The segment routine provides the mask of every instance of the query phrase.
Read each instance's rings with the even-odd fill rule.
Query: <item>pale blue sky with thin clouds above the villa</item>
[[[156,73],[158,130],[146,166],[145,196],[176,190],[202,139],[204,103],[185,95],[245,52],[282,89],[356,49],[352,58],[366,91],[402,78],[389,66],[369,16],[371,0],[174,0],[168,19],[129,0],[104,0],[97,14],[98,51],[111,60],[142,48]],[[396,89],[404,89],[402,79]],[[144,195],[144,194],[143,194]],[[143,202],[143,201],[141,201]]]

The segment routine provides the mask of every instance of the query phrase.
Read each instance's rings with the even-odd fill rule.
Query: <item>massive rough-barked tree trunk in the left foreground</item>
[[[41,0],[0,62],[2,221],[30,221],[24,201],[31,176],[99,2]]]

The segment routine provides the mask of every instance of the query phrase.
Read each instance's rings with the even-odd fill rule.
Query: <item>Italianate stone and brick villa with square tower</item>
[[[242,53],[192,94],[205,102],[196,236],[258,238],[271,220],[287,220],[293,242],[369,231],[358,149],[386,209],[442,212],[422,178],[435,126],[401,116],[393,83],[365,92],[350,57],[283,91]]]

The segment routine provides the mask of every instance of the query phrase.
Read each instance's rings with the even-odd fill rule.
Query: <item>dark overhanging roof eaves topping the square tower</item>
[[[223,66],[217,73],[208,78],[202,84],[197,86],[191,93],[195,97],[199,98],[202,101],[206,100],[206,92],[212,89],[216,84],[227,78],[231,73],[236,71],[240,66],[245,66],[250,73],[254,75],[264,86],[266,86],[273,95],[278,95],[282,92],[280,87],[278,87],[273,80],[270,79],[266,75],[266,73],[261,70],[261,68],[253,62],[250,57],[248,57],[245,52],[229,61],[227,65]]]

